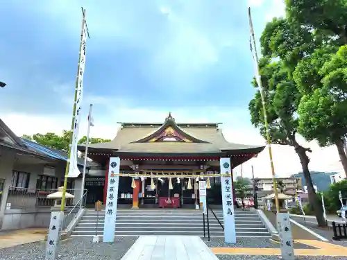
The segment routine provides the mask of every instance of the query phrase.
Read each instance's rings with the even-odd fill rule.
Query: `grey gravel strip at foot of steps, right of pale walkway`
[[[236,244],[226,244],[224,243],[223,237],[212,237],[211,241],[205,238],[203,241],[210,248],[280,248],[280,244],[270,241],[269,238],[239,238]],[[294,248],[297,249],[315,249],[309,245],[302,243],[294,243]]]

